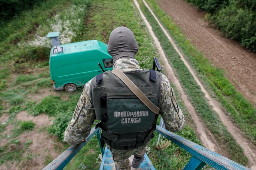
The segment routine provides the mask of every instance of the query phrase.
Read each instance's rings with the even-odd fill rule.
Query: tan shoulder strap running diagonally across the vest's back
[[[155,106],[142,91],[120,70],[113,68],[112,73],[120,78],[124,84],[144,103],[151,111],[159,115],[160,109]]]

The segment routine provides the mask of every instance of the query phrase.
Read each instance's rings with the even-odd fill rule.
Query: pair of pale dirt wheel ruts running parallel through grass
[[[154,13],[151,11],[151,9],[148,7],[148,5],[146,4],[146,2],[143,0],[144,4],[146,5],[146,7],[150,10],[150,12],[152,13],[152,15],[155,17]],[[142,16],[144,17],[144,16]],[[189,66],[189,64],[186,62],[186,60],[184,59],[184,57],[182,56],[182,54],[180,53],[180,51],[178,50],[176,44],[173,42],[172,38],[169,36],[169,34],[167,33],[167,31],[163,28],[163,26],[161,25],[161,23],[159,23],[157,17],[155,17],[155,19],[157,20],[158,24],[160,25],[160,27],[162,28],[163,32],[165,33],[165,35],[168,37],[168,39],[170,40],[170,42],[172,43],[174,49],[178,52],[178,54],[180,55],[182,61],[184,62],[184,64],[188,67],[189,71],[191,72],[191,74],[193,75],[194,79],[196,80],[197,84],[199,84],[201,90],[204,92],[206,98],[209,100],[209,104],[213,107],[213,109],[219,114],[222,123],[226,125],[227,130],[231,133],[231,135],[233,135],[233,137],[236,139],[236,142],[244,149],[244,154],[249,158],[249,166],[252,166],[251,168],[254,169],[256,165],[255,160],[256,160],[256,155],[254,153],[254,151],[256,150],[255,146],[252,145],[251,142],[249,142],[244,135],[242,135],[240,129],[238,129],[236,126],[233,125],[233,123],[227,118],[227,116],[224,114],[224,112],[222,111],[221,107],[219,106],[218,102],[215,101],[214,99],[211,98],[211,96],[208,94],[208,92],[206,91],[206,89],[203,87],[202,83],[199,81],[199,79],[196,77],[195,73],[193,72],[192,68]],[[149,23],[147,23],[147,21],[143,18],[143,20],[145,21],[151,35],[153,36],[153,39],[155,40],[155,44],[158,47],[159,53],[161,54],[161,58],[165,63],[167,62],[167,59],[165,58],[165,55],[163,54],[162,48],[160,46],[159,41],[157,40],[157,38],[155,37],[154,33],[151,30],[151,26],[148,26]],[[166,61],[165,61],[166,60]],[[197,124],[197,126],[199,126],[201,124],[201,122],[199,121],[199,119],[197,118],[197,115],[193,112],[195,112],[195,110],[193,110],[193,108],[191,109],[191,107],[189,107],[189,102],[187,101],[187,96],[184,95],[184,92],[178,82],[178,80],[176,80],[175,75],[173,74],[172,68],[170,68],[169,64],[165,64],[165,68],[166,71],[168,72],[169,76],[172,76],[175,81],[174,84],[176,84],[178,90],[181,93],[182,96],[182,100],[185,103],[185,106],[187,108],[187,110],[189,111],[189,113],[192,115],[193,120],[195,121],[195,123]],[[190,104],[191,105],[191,104]],[[197,119],[195,119],[197,118]],[[198,127],[197,127],[198,129]],[[206,128],[204,129],[205,131],[208,131]],[[203,143],[203,145],[205,145],[204,143],[204,139],[202,138],[202,136],[204,135],[205,132],[200,132],[198,130],[196,130],[197,134],[200,135],[200,139],[201,142]],[[210,137],[210,136],[209,136]],[[211,140],[210,143],[215,143],[214,139],[212,138],[208,138],[207,141],[209,141],[209,139]],[[208,143],[206,143],[208,144]],[[207,147],[207,145],[205,145]],[[209,147],[209,145],[208,145]],[[210,146],[212,149],[212,145]],[[216,147],[215,147],[216,148]],[[223,154],[222,154],[223,155]]]

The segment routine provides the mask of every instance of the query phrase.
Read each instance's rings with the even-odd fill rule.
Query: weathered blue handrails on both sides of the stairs
[[[229,158],[212,152],[203,146],[197,145],[196,143],[180,137],[177,134],[169,132],[159,126],[157,126],[156,131],[193,155],[183,170],[200,170],[204,165],[206,165],[206,163],[216,170],[250,170],[249,168],[240,165],[239,163],[236,163]],[[87,142],[89,142],[95,133],[97,133],[100,145],[101,136],[99,134],[99,128],[91,129],[90,135],[86,138]],[[49,163],[43,170],[62,170],[68,164],[68,162],[83,148],[83,146],[86,145],[87,142],[82,142],[79,145],[70,146],[67,150],[60,154],[59,157]],[[104,150],[102,148],[101,153],[102,155],[104,154]]]

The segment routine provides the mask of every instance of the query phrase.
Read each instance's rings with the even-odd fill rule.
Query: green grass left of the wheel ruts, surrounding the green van
[[[22,125],[24,126],[22,128],[22,122],[13,122],[15,115],[18,112],[26,110],[34,115],[47,113],[50,116],[54,116],[55,120],[53,125],[48,127],[47,130],[49,133],[59,137],[60,141],[63,141],[63,132],[72,118],[76,102],[82,92],[82,88],[78,88],[76,92],[68,94],[69,99],[65,101],[61,99],[60,96],[56,95],[46,96],[40,103],[27,99],[29,94],[33,95],[38,92],[38,89],[46,89],[52,86],[48,71],[37,75],[23,75],[29,69],[36,70],[37,68],[48,68],[49,62],[46,60],[49,56],[49,47],[45,47],[45,44],[36,47],[31,46],[31,42],[35,43],[33,36],[34,33],[43,37],[47,32],[55,31],[52,30],[51,24],[57,25],[56,21],[61,20],[62,22],[67,19],[70,20],[70,17],[74,17],[76,19],[81,19],[81,22],[78,25],[74,25],[75,23],[73,23],[73,25],[71,24],[71,27],[79,27],[79,29],[75,29],[76,34],[75,36],[72,36],[72,39],[70,39],[71,42],[97,39],[108,43],[111,31],[116,27],[125,26],[133,31],[135,38],[138,41],[139,52],[136,54],[136,59],[139,61],[141,68],[152,68],[153,57],[159,56],[157,48],[154,45],[154,41],[148,33],[148,29],[140,18],[139,12],[132,0],[91,0],[91,5],[84,0],[57,1],[54,5],[52,5],[52,2],[52,0],[49,0],[42,3],[41,7],[35,7],[31,11],[21,14],[18,19],[11,21],[10,26],[8,26],[8,28],[10,27],[10,34],[5,36],[1,41],[2,44],[0,44],[3,45],[0,47],[0,99],[3,103],[8,103],[10,105],[10,109],[6,106],[3,107],[4,112],[10,114],[10,118],[7,120],[6,124],[10,122],[16,124],[13,135],[11,136],[12,139],[14,137],[18,137],[19,132],[24,131],[23,128],[32,129],[33,125],[31,123],[23,123],[25,125]],[[71,9],[73,4],[80,5],[81,3],[89,4],[90,7],[86,8],[88,11],[78,11],[74,16],[65,11],[67,9]],[[55,17],[56,14],[60,17]],[[26,19],[28,15],[31,17]],[[37,24],[39,24],[38,27]],[[19,46],[18,43],[25,45]],[[15,64],[11,65],[11,63]],[[3,74],[1,74],[1,72],[3,72]],[[12,73],[18,74],[19,76],[12,79]],[[10,81],[12,82],[10,83]],[[1,89],[1,87],[3,88]],[[12,100],[15,97],[17,99]],[[21,98],[23,98],[23,100],[20,100]],[[179,102],[179,106],[182,108],[184,115],[186,116],[186,122],[189,122],[188,120],[190,119],[190,116],[188,112],[185,111],[181,101]],[[25,105],[26,107],[23,108]],[[4,130],[4,128],[5,125],[0,127],[2,130]],[[186,125],[185,129],[179,134],[200,144],[194,131],[188,125]],[[157,133],[155,135],[157,136]],[[166,140],[163,140],[161,143],[161,149],[156,150],[154,148],[156,140],[157,138],[155,137],[149,145],[151,148],[149,156],[157,169],[167,169],[166,166],[173,167],[173,169],[181,169],[191,158],[191,155],[187,151],[182,150],[173,143],[168,143],[168,141],[166,142]],[[3,157],[7,154],[8,146],[13,144],[13,142],[8,143],[8,145],[2,148],[2,150],[0,149],[1,163],[3,161],[10,161],[9,158],[5,159]],[[18,143],[18,141],[16,141],[16,143]],[[31,142],[28,141],[26,147],[17,150],[16,154],[23,154],[24,151],[29,148],[30,144]],[[56,151],[62,152],[62,150]],[[65,169],[82,169],[81,164],[86,166],[87,169],[98,169],[99,163],[97,163],[97,158],[99,154],[100,150],[98,139],[97,137],[91,138],[89,143],[83,147],[83,149],[75,156],[74,159],[72,159]],[[166,157],[166,155],[172,156]],[[14,155],[13,157],[13,160],[21,160],[18,159],[19,157],[16,158]],[[26,159],[28,160],[33,157],[34,156],[32,154],[26,155]],[[50,163],[52,160],[53,158],[48,155],[45,158],[45,165]]]

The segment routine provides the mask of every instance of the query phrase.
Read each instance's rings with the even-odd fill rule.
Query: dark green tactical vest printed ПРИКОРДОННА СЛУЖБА
[[[146,96],[160,107],[161,79],[155,70],[123,72]],[[101,145],[106,142],[117,150],[135,149],[146,145],[156,129],[158,115],[152,112],[111,71],[92,79],[90,96],[97,127],[102,128]]]

